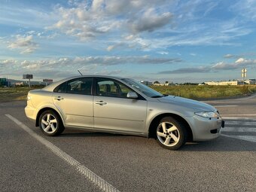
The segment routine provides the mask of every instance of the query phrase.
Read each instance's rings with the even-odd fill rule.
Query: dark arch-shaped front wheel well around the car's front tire
[[[149,138],[156,138],[155,129],[158,126],[158,123],[160,122],[160,120],[163,117],[173,117],[173,118],[175,118],[175,120],[178,120],[178,121],[181,121],[182,123],[184,123],[184,126],[186,127],[187,134],[188,134],[187,141],[188,142],[193,141],[193,132],[191,130],[191,127],[190,127],[189,123],[187,123],[187,120],[185,120],[183,117],[181,117],[178,114],[172,114],[172,113],[158,114],[156,117],[154,117],[153,120],[151,120],[151,124],[148,128],[148,137]]]

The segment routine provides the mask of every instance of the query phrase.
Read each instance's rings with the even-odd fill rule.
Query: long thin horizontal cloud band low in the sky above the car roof
[[[84,57],[62,57],[59,59],[42,60],[14,60],[6,59],[0,61],[1,66],[17,66],[23,69],[28,68],[62,68],[65,69],[96,69],[99,66],[120,66],[125,64],[137,65],[166,65],[181,62],[179,58],[161,58],[151,56],[84,56]]]

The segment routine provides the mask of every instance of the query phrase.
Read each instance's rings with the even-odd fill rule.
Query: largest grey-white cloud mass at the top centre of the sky
[[[172,17],[157,7],[158,2],[146,0],[83,2],[73,8],[57,8],[59,20],[48,29],[59,29],[84,41],[107,32],[152,32],[170,23]]]

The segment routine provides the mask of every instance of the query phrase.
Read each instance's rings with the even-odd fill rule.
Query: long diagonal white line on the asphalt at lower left
[[[14,123],[17,123],[18,126],[20,126],[23,130],[25,130],[27,133],[29,133],[30,136],[34,137],[38,142],[41,142],[46,148],[50,149],[50,151],[53,152],[53,154],[56,154],[56,156],[60,157],[62,160],[65,160],[66,163],[69,163],[69,165],[73,166],[78,172],[81,173],[81,175],[84,175],[87,180],[91,181],[93,184],[95,184],[99,189],[106,192],[112,192],[116,191],[118,192],[115,187],[113,187],[111,184],[109,184],[107,181],[105,181],[103,178],[96,175],[94,172],[92,172],[90,169],[88,169],[86,166],[81,165],[77,160],[75,160],[73,157],[69,156],[69,154],[66,154],[64,151],[62,151],[60,148],[53,145],[51,142],[47,141],[47,139],[44,139],[41,136],[38,136],[34,131],[30,130],[28,126],[20,122],[20,120],[17,120],[15,117],[11,116],[10,114],[5,114],[8,118],[14,121]]]

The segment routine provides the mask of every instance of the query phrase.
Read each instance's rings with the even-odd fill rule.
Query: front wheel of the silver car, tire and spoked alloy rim
[[[156,129],[157,143],[169,150],[177,150],[187,142],[187,130],[179,120],[163,117]]]

